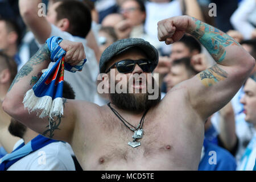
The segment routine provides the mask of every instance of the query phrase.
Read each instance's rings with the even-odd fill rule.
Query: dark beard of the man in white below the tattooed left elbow
[[[27,131],[27,127],[12,118],[8,130],[14,137],[23,138],[24,133]]]

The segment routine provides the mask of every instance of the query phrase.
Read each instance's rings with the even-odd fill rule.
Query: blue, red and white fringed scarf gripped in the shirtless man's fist
[[[63,115],[64,69],[73,73],[81,71],[86,62],[84,59],[75,66],[64,63],[66,52],[59,46],[62,40],[56,36],[47,39],[46,44],[51,52],[51,61],[56,63],[52,68],[42,71],[43,75],[38,82],[24,96],[24,107],[29,111],[42,110],[40,118]]]

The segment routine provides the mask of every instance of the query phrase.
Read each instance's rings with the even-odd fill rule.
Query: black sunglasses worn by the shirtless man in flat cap
[[[131,60],[126,59],[122,61],[118,61],[113,64],[105,73],[108,73],[110,69],[117,67],[117,71],[119,73],[131,73],[133,72],[135,65],[138,64],[143,72],[152,72],[154,70],[152,62],[147,59],[139,59],[139,60]]]

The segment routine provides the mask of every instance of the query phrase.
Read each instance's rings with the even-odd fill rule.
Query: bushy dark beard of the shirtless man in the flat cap
[[[134,113],[142,113],[151,107],[156,106],[161,100],[161,90],[158,86],[159,94],[155,100],[149,100],[148,96],[154,93],[110,93],[110,101],[119,109],[133,111]]]

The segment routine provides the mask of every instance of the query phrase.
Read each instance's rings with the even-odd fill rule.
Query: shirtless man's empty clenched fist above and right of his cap
[[[188,32],[193,19],[190,16],[174,16],[158,22],[158,39],[172,44],[180,40]]]

